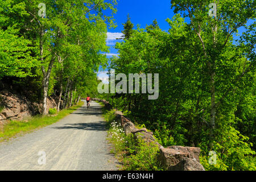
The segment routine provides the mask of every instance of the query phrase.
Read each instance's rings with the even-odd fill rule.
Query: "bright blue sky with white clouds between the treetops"
[[[110,53],[107,54],[107,57],[117,55],[117,50],[114,49],[114,45],[116,42],[120,42],[121,40],[115,40],[115,38],[122,35],[122,23],[126,22],[127,14],[129,14],[131,22],[134,24],[134,28],[137,28],[138,24],[141,28],[145,28],[156,19],[159,27],[163,31],[168,31],[170,28],[166,22],[166,19],[171,19],[172,16],[174,16],[174,11],[171,9],[170,0],[120,0],[118,1],[117,10],[117,14],[114,14],[117,28],[108,29],[108,39],[106,43],[107,46],[110,47]],[[187,19],[185,19],[185,21],[186,20]],[[250,20],[247,24],[252,22],[253,21]],[[242,34],[243,31],[244,28],[240,28],[238,34]],[[234,38],[237,39],[238,37],[234,35]],[[105,72],[100,70],[98,77],[106,78]]]

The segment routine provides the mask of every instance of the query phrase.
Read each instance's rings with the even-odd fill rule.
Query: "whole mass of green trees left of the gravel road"
[[[61,108],[82,94],[97,95],[96,72],[108,63],[102,52],[109,49],[106,32],[115,27],[117,1],[46,0],[45,18],[39,3],[0,1],[0,80],[39,103],[62,94]]]

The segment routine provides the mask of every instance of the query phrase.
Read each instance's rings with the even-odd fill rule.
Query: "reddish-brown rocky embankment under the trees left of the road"
[[[42,113],[42,104],[31,102],[26,97],[13,94],[8,91],[0,92],[0,125],[7,120],[21,121],[31,115]],[[47,111],[56,107],[56,102],[52,98],[47,98]]]

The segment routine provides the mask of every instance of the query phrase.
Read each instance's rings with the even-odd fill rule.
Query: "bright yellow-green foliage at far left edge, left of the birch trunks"
[[[31,55],[34,50],[31,40],[20,35],[21,21],[28,16],[26,5],[15,2],[0,1],[0,79],[32,76],[31,68],[39,64]]]

